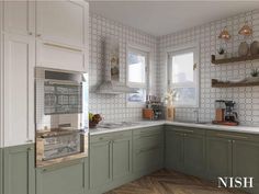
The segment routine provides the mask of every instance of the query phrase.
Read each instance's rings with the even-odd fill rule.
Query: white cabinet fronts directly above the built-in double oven
[[[86,71],[88,2],[36,1],[36,66]]]

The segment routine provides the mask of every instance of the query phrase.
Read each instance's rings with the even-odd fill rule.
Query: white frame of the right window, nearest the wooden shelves
[[[172,83],[172,57],[180,54],[187,54],[193,52],[193,66],[195,65],[194,81],[192,83]],[[182,46],[169,48],[167,50],[167,89],[177,88],[195,88],[195,103],[194,104],[182,104],[173,102],[176,107],[200,107],[200,44],[190,43]]]

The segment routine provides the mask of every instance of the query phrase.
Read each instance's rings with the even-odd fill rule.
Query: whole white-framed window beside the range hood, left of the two
[[[147,92],[147,64],[148,53],[137,48],[127,49],[127,84],[137,89],[137,93],[127,95],[127,102],[143,104]]]

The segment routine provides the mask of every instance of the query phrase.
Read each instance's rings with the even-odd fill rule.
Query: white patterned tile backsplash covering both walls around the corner
[[[227,52],[236,54],[238,45],[244,37],[238,35],[238,30],[248,23],[254,28],[248,43],[259,41],[259,10],[241,13],[224,20],[214,21],[201,26],[156,37],[142,31],[125,26],[121,23],[108,20],[103,16],[91,14],[90,16],[90,100],[89,111],[101,113],[104,121],[136,121],[140,119],[140,107],[128,107],[126,94],[104,95],[94,93],[94,88],[102,81],[103,54],[102,41],[113,36],[120,41],[120,80],[126,82],[126,45],[138,44],[151,49],[153,62],[150,67],[150,93],[160,96],[167,91],[167,64],[166,50],[188,43],[200,44],[200,107],[201,121],[210,122],[214,118],[214,102],[217,99],[234,100],[237,102],[237,112],[243,125],[259,125],[259,87],[246,88],[211,88],[211,79],[244,78],[250,76],[251,66],[259,68],[259,61],[234,62],[215,66],[211,64],[211,55],[223,44],[217,38],[226,26],[232,35],[227,43]],[[193,109],[177,109],[177,119],[194,121]]]

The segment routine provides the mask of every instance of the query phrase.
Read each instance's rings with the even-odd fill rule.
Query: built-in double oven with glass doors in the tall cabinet
[[[36,166],[88,153],[88,75],[35,68]]]

